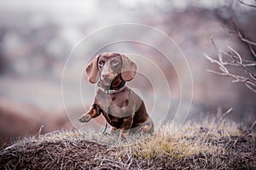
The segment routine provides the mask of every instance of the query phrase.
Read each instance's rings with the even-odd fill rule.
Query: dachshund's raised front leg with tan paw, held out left
[[[89,122],[90,119],[95,118],[96,116],[100,116],[101,114],[101,107],[97,104],[93,104],[89,111],[84,113],[83,116],[80,116],[79,122]]]

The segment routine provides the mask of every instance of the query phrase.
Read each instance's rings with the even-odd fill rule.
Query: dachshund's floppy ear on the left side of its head
[[[88,81],[91,83],[96,83],[99,77],[99,69],[98,69],[98,59],[100,55],[97,55],[96,58],[90,62],[89,65],[86,66],[86,74],[88,77]]]

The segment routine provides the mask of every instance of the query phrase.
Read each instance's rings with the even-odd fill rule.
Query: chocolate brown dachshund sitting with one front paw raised
[[[153,133],[154,124],[148,116],[143,100],[125,82],[131,81],[137,65],[124,54],[104,53],[96,56],[86,67],[88,80],[98,82],[99,89],[89,111],[79,122],[89,122],[102,114],[111,125],[111,133],[120,130],[121,137],[132,133]]]

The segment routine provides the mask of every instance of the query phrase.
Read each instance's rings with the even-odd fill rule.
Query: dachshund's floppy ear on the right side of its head
[[[121,54],[121,58],[123,60],[121,77],[125,80],[125,82],[129,82],[136,75],[137,65],[133,61],[131,61],[131,59],[126,57],[124,54]]]

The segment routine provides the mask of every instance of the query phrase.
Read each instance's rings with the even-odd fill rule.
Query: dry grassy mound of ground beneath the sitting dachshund
[[[0,151],[0,169],[255,169],[255,135],[236,123],[174,123],[151,135],[55,132]]]

